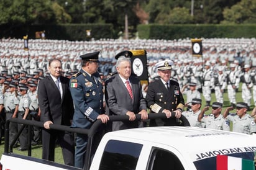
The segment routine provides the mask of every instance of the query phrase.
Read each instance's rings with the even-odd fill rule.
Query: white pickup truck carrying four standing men
[[[149,119],[156,117],[163,118],[165,114],[150,114]],[[184,117],[181,119],[185,125],[189,125]],[[111,120],[127,121],[128,118],[121,116],[120,119],[115,116],[111,117]],[[29,120],[25,120],[27,121]],[[86,132],[88,136],[93,136],[100,122],[94,124],[91,130]],[[249,170],[255,168],[255,141],[255,135],[183,126],[120,130],[103,136],[93,158],[88,148],[86,160],[92,161],[86,161],[85,169],[219,170],[242,169],[247,163],[245,169]],[[90,142],[89,140],[88,146]],[[0,163],[4,170],[78,169],[13,154],[8,151],[8,147],[2,154]]]

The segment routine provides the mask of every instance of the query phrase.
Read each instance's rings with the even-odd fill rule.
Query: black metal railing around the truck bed
[[[140,115],[135,115],[135,116],[136,116],[136,120],[141,120]],[[175,113],[171,114],[170,119],[173,119],[173,118],[175,118]],[[148,119],[167,119],[167,117],[166,117],[165,114],[149,114]],[[188,120],[183,115],[181,115],[180,120],[181,120],[181,122],[183,123],[184,126],[190,126],[190,123],[188,122]],[[112,115],[112,116],[109,116],[109,122],[115,122],[115,121],[129,121],[129,116],[127,116],[127,115]],[[17,135],[14,136],[14,140],[11,141],[11,144],[9,145],[9,124],[10,124],[10,122],[21,123],[22,127],[19,130],[19,132],[17,133]],[[91,160],[91,155],[92,155],[91,151],[92,151],[92,146],[93,146],[93,136],[95,135],[95,133],[97,132],[97,130],[99,129],[99,127],[101,125],[103,125],[101,120],[96,120],[93,123],[93,125],[91,126],[90,129],[71,128],[71,127],[68,127],[68,126],[56,125],[56,124],[50,124],[50,129],[88,135],[88,145],[87,145],[87,148],[86,148],[86,156],[85,156],[85,169],[89,169],[89,166],[91,164],[90,160]],[[37,121],[32,121],[32,120],[23,120],[23,119],[15,119],[15,118],[7,120],[6,125],[5,125],[5,134],[4,134],[4,136],[5,136],[4,137],[4,140],[5,140],[4,153],[12,152],[12,148],[14,146],[14,143],[16,143],[17,138],[19,138],[19,135],[21,134],[21,132],[25,128],[25,126],[29,126],[28,156],[31,156],[31,133],[30,133],[31,127],[36,126],[36,127],[44,128],[43,127],[43,122],[37,122]]]

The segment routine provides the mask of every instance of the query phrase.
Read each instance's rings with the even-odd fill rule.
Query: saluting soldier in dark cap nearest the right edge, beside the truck
[[[248,105],[245,102],[237,102],[236,114],[229,114],[229,111],[233,110],[234,107],[227,107],[223,113],[224,119],[233,122],[233,132],[240,133],[255,133],[256,125],[254,119],[247,114]]]

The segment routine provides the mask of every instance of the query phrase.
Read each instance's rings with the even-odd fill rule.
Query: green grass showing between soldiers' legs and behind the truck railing
[[[241,87],[241,84],[240,84],[240,87]],[[184,96],[185,98],[185,101],[186,101],[186,96]],[[203,109],[204,105],[206,104],[206,102],[204,101],[204,97],[203,95],[201,95],[201,99],[202,99],[202,107],[201,109]],[[239,91],[237,92],[237,95],[236,95],[236,99],[237,99],[237,102],[242,102],[242,92],[241,92],[241,89],[239,88]],[[215,97],[215,94],[212,93],[212,100],[211,100],[211,103],[212,102],[215,102],[216,101],[216,97]],[[222,112],[224,112],[224,110],[229,107],[231,104],[228,100],[228,97],[227,97],[227,92],[224,92],[224,107],[222,109]],[[250,107],[250,111],[248,112],[250,114],[250,112],[252,112],[251,110],[254,108],[254,103],[252,101],[252,106]],[[235,110],[234,110],[235,112]],[[211,109],[209,109],[206,114],[210,114],[211,113]],[[232,126],[232,124],[231,124]],[[231,127],[232,128],[232,127]],[[18,151],[17,148],[14,148],[13,149],[13,152],[14,153],[17,153],[17,154],[23,154],[23,155],[27,155],[27,151]],[[1,154],[4,153],[4,141],[2,142],[2,145],[0,145],[0,156]],[[35,158],[42,158],[42,146],[41,145],[38,145],[38,146],[32,146],[32,157],[35,157]],[[55,148],[55,162],[57,163],[62,163],[63,164],[63,157],[62,157],[62,150],[59,146],[57,146]]]

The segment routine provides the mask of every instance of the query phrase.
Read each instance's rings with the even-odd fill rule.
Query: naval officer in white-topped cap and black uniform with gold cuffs
[[[147,106],[154,113],[165,113],[167,118],[171,117],[171,112],[175,112],[175,117],[179,119],[184,109],[184,99],[180,91],[180,84],[171,80],[171,66],[173,61],[165,60],[158,62],[157,67],[160,79],[149,84],[146,101]],[[176,119],[150,120],[150,125],[174,125]]]

